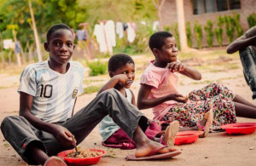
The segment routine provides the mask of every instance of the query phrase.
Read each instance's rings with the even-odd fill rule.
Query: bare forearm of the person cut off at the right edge
[[[245,49],[250,45],[255,45],[255,43],[256,43],[256,36],[243,39],[243,40],[234,41],[230,43],[230,45],[228,46],[227,53],[233,54],[240,49]]]

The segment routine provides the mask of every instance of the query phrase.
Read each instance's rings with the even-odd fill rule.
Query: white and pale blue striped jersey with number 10
[[[65,74],[49,68],[48,60],[26,66],[18,92],[31,94],[32,114],[47,123],[64,122],[72,117],[76,97],[83,93],[84,67],[69,61]]]

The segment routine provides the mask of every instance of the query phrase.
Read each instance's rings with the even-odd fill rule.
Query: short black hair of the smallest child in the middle
[[[128,54],[114,54],[108,60],[108,72],[115,72],[117,69],[125,66],[127,63],[134,64],[131,56],[129,56]]]

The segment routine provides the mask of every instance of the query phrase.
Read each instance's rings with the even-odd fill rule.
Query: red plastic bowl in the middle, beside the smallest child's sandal
[[[175,145],[190,144],[198,140],[199,135],[203,134],[202,131],[180,131],[175,136]]]

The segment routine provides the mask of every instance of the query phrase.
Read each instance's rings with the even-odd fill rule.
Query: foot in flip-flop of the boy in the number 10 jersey
[[[155,142],[153,140],[148,140],[142,146],[137,146],[135,156],[146,157],[154,154],[163,154],[166,152],[174,152],[174,151],[177,151],[177,148],[163,146],[158,142]]]

